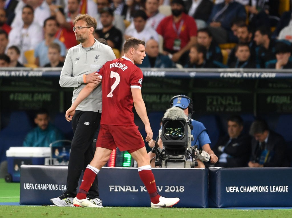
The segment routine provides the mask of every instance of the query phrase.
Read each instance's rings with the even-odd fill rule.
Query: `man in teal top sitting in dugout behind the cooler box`
[[[65,139],[63,133],[49,123],[50,117],[46,109],[39,109],[34,118],[35,127],[30,131],[23,142],[24,147],[49,147],[52,142]],[[54,146],[61,146],[55,143]]]

